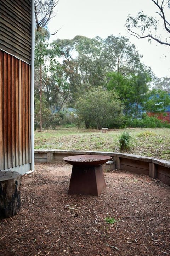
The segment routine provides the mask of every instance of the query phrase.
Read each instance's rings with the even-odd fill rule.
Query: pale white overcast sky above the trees
[[[106,38],[111,34],[128,36],[143,55],[142,62],[150,66],[157,77],[170,77],[170,48],[129,36],[125,27],[129,13],[136,16],[143,10],[149,16],[158,17],[155,13],[158,9],[151,0],[59,0],[56,10],[57,15],[48,27],[51,33],[61,29],[51,40],[72,39],[77,35],[89,38]]]

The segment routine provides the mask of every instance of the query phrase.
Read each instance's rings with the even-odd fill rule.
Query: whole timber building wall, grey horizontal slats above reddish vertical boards
[[[31,168],[30,62],[31,0],[1,0],[0,170]]]

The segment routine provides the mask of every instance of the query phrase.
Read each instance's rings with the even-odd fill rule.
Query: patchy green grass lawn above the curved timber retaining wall
[[[61,128],[35,131],[35,149],[66,149],[84,151],[112,151],[119,149],[119,136],[124,129],[112,129],[107,134],[99,130]],[[170,129],[131,128],[130,151],[126,153],[170,160]]]

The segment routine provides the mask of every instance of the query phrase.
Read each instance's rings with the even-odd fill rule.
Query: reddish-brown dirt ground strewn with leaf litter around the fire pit
[[[99,197],[68,195],[71,168],[36,164],[23,175],[21,211],[0,220],[0,255],[170,255],[170,186],[115,170]]]

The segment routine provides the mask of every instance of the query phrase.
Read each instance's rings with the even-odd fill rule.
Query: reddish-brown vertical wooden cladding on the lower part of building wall
[[[30,65],[0,50],[0,170],[30,163]]]

